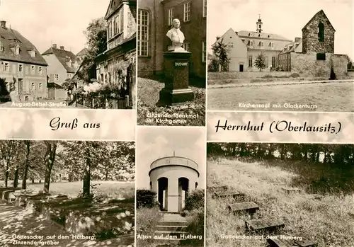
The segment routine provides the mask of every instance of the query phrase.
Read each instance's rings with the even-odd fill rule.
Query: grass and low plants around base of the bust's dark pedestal
[[[164,125],[164,126],[205,126],[205,88],[190,86],[195,93],[193,102],[185,102],[180,105],[159,107],[156,103],[159,101],[159,92],[164,88],[164,83],[157,79],[138,78],[137,83],[137,125]],[[161,123],[156,122],[152,114],[183,114],[198,115],[196,118],[185,118],[186,122],[179,123]],[[147,119],[152,120],[148,122]],[[178,120],[173,118],[171,120]]]

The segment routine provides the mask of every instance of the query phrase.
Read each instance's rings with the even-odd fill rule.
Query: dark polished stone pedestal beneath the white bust
[[[189,85],[189,60],[191,53],[174,50],[164,53],[165,87],[160,91],[159,103],[174,105],[194,100]]]

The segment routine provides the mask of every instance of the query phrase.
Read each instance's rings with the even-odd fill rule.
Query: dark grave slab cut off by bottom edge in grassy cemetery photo
[[[291,239],[290,239],[291,237]],[[267,240],[270,247],[316,247],[317,243],[304,236],[273,236]]]

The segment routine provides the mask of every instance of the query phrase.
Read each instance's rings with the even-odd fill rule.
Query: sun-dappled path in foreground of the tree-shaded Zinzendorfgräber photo
[[[26,239],[16,239],[21,237]],[[127,247],[132,241],[134,236],[105,241],[78,239],[61,225],[43,219],[37,212],[0,202],[0,246]]]

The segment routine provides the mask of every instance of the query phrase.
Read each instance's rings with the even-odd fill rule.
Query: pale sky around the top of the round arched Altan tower
[[[136,186],[149,189],[150,165],[164,156],[183,156],[198,163],[200,180],[205,188],[206,135],[204,127],[137,127]]]

